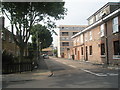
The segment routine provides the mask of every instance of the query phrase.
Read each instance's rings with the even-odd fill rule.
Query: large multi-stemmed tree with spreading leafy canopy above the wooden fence
[[[12,37],[20,48],[20,60],[23,59],[32,26],[43,21],[48,27],[53,28],[55,23],[51,18],[60,20],[66,15],[64,4],[64,2],[2,2],[2,13],[10,20]]]

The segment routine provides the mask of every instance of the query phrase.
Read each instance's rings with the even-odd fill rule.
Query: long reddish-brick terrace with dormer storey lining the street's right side
[[[88,18],[88,24],[72,36],[74,59],[120,64],[120,3],[107,3]]]

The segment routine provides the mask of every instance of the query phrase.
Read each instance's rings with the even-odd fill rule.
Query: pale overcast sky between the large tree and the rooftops
[[[87,19],[108,2],[120,0],[64,0],[65,8],[68,9],[64,20],[56,22],[59,25],[88,25]],[[58,33],[59,29],[55,29]],[[58,45],[58,37],[53,35],[54,46]]]

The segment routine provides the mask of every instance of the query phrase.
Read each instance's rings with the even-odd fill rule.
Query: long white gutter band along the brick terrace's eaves
[[[113,13],[107,15],[106,17],[104,17],[103,19],[100,19],[99,21],[95,22],[94,24],[88,26],[87,28],[85,28],[84,30],[82,30],[81,32],[78,32],[77,34],[73,35],[71,38],[75,38],[76,36],[90,30],[91,28],[97,26],[98,24],[101,24],[103,21],[106,21],[108,20],[110,17],[114,16],[115,14],[119,13],[120,12],[120,9],[114,11]]]

